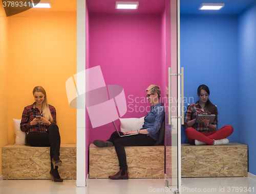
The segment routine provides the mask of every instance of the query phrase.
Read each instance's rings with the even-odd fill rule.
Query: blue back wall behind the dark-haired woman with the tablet
[[[228,138],[238,142],[238,37],[236,15],[181,15],[181,67],[184,67],[184,96],[198,100],[197,88],[205,84],[209,99],[217,105],[218,129],[234,128]],[[185,142],[181,131],[181,143]]]

